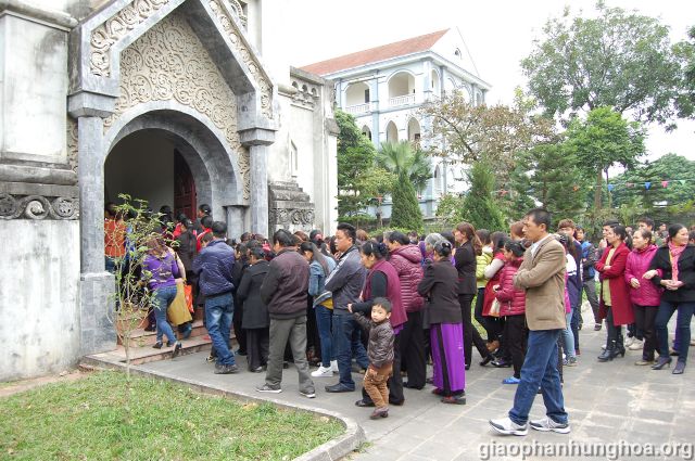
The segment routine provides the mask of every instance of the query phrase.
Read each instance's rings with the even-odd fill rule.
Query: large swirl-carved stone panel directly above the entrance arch
[[[104,131],[128,108],[175,100],[206,115],[237,152],[243,196],[249,199],[251,162],[237,132],[237,98],[181,13],[163,18],[121,53],[121,95]]]

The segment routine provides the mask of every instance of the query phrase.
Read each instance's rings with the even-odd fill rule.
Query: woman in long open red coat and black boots
[[[612,360],[620,354],[626,355],[622,344],[622,325],[634,322],[630,292],[626,283],[626,264],[630,249],[626,245],[626,228],[612,226],[605,232],[608,246],[604,249],[601,260],[596,262],[596,270],[601,272],[601,305],[598,316],[606,319],[608,338],[606,349],[598,361]]]

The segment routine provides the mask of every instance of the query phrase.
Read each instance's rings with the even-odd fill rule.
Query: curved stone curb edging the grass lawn
[[[108,357],[104,355],[93,355],[86,356],[80,360],[79,368],[83,370],[118,370],[122,372],[126,372],[126,364],[122,361],[114,359],[114,357]],[[203,394],[210,395],[219,395],[224,396],[237,401],[241,401],[244,404],[262,404],[269,401],[277,407],[294,410],[294,411],[304,411],[313,414],[317,414],[320,417],[330,418],[339,421],[343,427],[345,428],[344,434],[334,438],[332,440],[328,440],[327,443],[319,445],[311,451],[302,454],[301,457],[294,458],[295,461],[333,461],[340,460],[352,453],[356,449],[358,449],[365,441],[367,441],[365,432],[363,427],[357,424],[351,418],[344,417],[339,412],[316,409],[305,405],[290,405],[285,401],[280,401],[273,398],[264,398],[258,395],[248,394],[244,392],[231,392],[224,389],[222,387],[217,387],[214,385],[208,385],[195,380],[182,379],[169,373],[163,373],[160,371],[152,370],[143,370],[138,366],[130,367],[130,373],[137,376],[142,377],[156,377],[159,380],[168,381],[172,383],[184,384],[189,388],[197,390]]]

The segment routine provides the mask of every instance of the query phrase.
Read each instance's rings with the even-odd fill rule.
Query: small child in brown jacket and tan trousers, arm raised
[[[352,311],[352,309],[351,309]],[[383,297],[378,297],[371,306],[371,321],[362,313],[354,313],[355,320],[369,332],[369,345],[367,356],[369,368],[365,373],[365,390],[371,397],[377,407],[371,415],[372,420],[389,417],[389,388],[387,381],[393,372],[393,329],[389,318],[391,317],[391,303]]]

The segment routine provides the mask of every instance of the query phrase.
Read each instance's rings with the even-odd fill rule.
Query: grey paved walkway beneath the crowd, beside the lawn
[[[285,370],[283,392],[270,397],[288,404],[337,411],[355,420],[364,427],[370,441],[362,452],[350,457],[358,461],[592,459],[586,450],[601,449],[607,452],[593,459],[693,459],[695,368],[686,369],[685,374],[678,376],[669,370],[635,367],[633,362],[640,358],[639,351],[628,351],[624,358],[598,363],[596,356],[604,340],[605,331],[594,332],[593,323],[587,322],[580,334],[582,355],[579,366],[565,368],[565,402],[572,430],[569,435],[535,431],[530,431],[526,437],[495,434],[488,420],[506,414],[516,386],[501,384],[510,375],[510,369],[479,367],[477,354],[466,375],[468,404],[465,406],[441,404],[430,394],[431,386],[422,390],[405,389],[403,407],[393,407],[388,419],[371,421],[369,409],[354,406],[361,397],[359,392],[328,394],[324,390],[324,385],[333,384],[337,379],[315,379],[316,398],[308,400],[301,396],[293,368]],[[253,392],[256,384],[263,383],[264,374],[245,370],[235,375],[213,374],[213,366],[205,362],[205,357],[206,353],[193,354],[138,368],[175,374],[232,392]],[[245,366],[245,359],[239,359],[239,364]],[[359,375],[354,377],[359,382]],[[543,401],[539,396],[531,417],[543,415]],[[669,444],[669,447],[662,447],[662,444]],[[635,454],[634,449],[649,450],[650,447],[681,451],[680,456],[668,452],[652,457]],[[557,450],[563,449],[574,451],[561,456]],[[623,451],[614,451],[619,449]],[[633,449],[632,454],[624,451],[629,449]],[[519,454],[522,450],[527,450],[526,457]],[[535,452],[531,453],[531,450]]]

